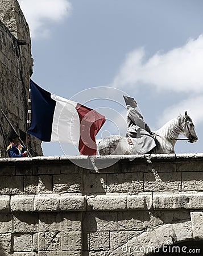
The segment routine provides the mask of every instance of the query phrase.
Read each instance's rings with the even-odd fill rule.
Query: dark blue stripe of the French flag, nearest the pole
[[[41,141],[51,141],[53,114],[56,101],[51,93],[30,80],[31,88],[31,125],[28,133]]]

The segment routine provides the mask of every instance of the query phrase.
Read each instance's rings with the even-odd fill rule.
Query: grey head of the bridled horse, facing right
[[[187,111],[185,111],[185,115],[183,115],[183,123],[182,123],[183,135],[189,139],[190,143],[197,142],[197,134],[194,129],[194,124],[192,119],[189,117]]]

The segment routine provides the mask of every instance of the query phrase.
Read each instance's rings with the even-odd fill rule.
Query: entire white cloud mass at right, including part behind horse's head
[[[180,48],[166,53],[157,52],[146,60],[144,48],[135,49],[126,56],[111,86],[131,90],[136,94],[140,85],[155,88],[157,92],[173,97],[168,91],[181,93],[179,103],[169,106],[159,116],[157,125],[184,114],[185,110],[194,124],[203,122],[203,35],[190,39]],[[183,93],[184,92],[184,93]],[[160,96],[158,96],[160,97]]]

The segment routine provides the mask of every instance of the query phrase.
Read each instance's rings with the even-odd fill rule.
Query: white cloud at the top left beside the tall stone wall
[[[19,0],[20,8],[30,27],[32,39],[47,37],[50,33],[49,22],[61,22],[71,9],[67,0]]]

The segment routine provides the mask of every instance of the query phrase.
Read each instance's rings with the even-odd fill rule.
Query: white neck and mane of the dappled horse
[[[178,117],[169,120],[159,130],[156,130],[155,133],[167,139],[175,139],[179,133],[183,131],[184,121],[185,116],[179,115]]]

